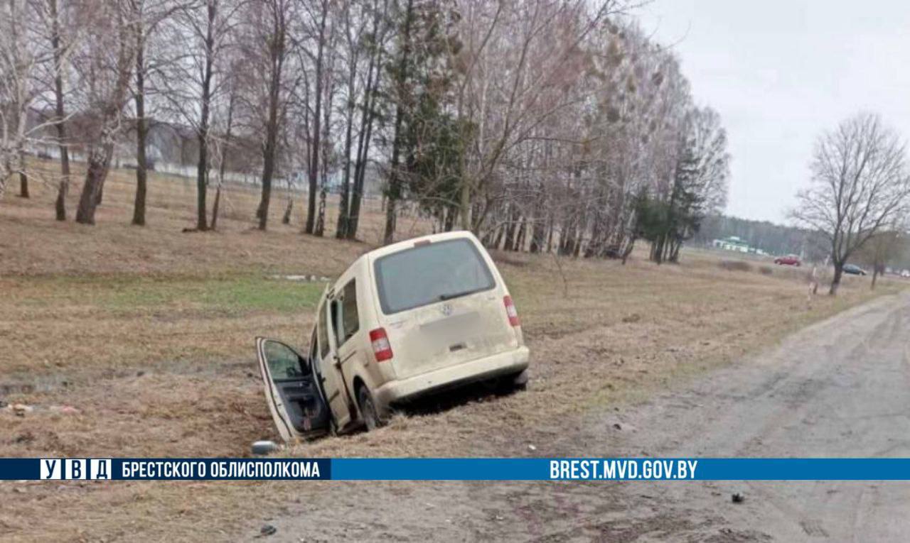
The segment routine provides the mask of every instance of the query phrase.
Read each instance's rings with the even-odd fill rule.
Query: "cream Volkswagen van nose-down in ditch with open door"
[[[523,388],[528,348],[509,290],[470,232],[395,243],[323,294],[307,356],[258,338],[269,409],[286,441],[366,425],[397,404],[491,381]]]

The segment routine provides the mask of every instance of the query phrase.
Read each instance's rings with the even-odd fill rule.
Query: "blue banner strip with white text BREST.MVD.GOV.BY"
[[[910,480],[910,459],[0,459],[0,479]]]

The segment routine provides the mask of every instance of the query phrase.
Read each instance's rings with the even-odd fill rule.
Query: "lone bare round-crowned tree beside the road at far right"
[[[812,174],[792,215],[831,242],[834,295],[847,260],[905,210],[905,143],[878,115],[857,114],[818,139]]]

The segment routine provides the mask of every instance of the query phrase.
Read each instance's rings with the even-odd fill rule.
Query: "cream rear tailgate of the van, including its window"
[[[499,274],[473,238],[418,241],[373,263],[380,321],[394,353],[395,376],[511,350],[511,327]]]

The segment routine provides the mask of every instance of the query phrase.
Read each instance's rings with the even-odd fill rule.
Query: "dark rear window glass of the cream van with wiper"
[[[470,240],[450,240],[393,252],[374,264],[382,312],[390,315],[495,286]]]

